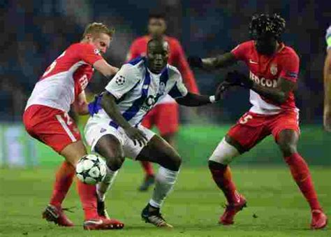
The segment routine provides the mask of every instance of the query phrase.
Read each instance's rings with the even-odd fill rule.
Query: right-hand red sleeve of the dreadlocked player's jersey
[[[296,82],[299,73],[299,64],[300,60],[297,54],[294,51],[290,52],[290,54],[284,57],[284,61],[282,61],[279,77]]]

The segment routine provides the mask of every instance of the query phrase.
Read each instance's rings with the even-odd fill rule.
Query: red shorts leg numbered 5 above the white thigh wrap
[[[240,154],[251,150],[263,138],[270,135],[263,120],[263,117],[253,113],[245,113],[226,134],[226,142],[235,147]]]

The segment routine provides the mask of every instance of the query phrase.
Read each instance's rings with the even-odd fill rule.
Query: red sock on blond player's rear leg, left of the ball
[[[62,201],[64,201],[73,183],[74,175],[75,168],[70,163],[64,161],[55,175],[54,189],[50,198],[50,204],[53,206],[61,206]]]

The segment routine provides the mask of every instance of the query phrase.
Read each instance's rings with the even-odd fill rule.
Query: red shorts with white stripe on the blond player
[[[80,141],[80,131],[68,113],[47,106],[29,106],[23,114],[27,132],[56,152],[67,145]]]

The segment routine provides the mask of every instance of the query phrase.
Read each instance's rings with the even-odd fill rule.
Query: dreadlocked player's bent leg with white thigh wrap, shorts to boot
[[[250,116],[247,119],[247,116]],[[222,190],[228,201],[226,210],[219,219],[220,224],[233,224],[235,214],[246,206],[244,196],[238,194],[232,180],[230,162],[235,157],[253,148],[267,133],[260,125],[260,118],[244,115],[219,143],[211,157],[209,170],[216,185]]]

